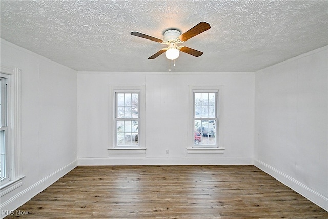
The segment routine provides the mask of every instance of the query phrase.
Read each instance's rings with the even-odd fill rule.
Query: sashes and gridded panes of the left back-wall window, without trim
[[[139,92],[116,92],[116,147],[139,147]]]

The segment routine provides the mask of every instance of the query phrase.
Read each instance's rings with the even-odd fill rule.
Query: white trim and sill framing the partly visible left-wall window
[[[23,185],[22,154],[20,140],[20,69],[0,66],[0,72],[8,77],[8,163],[10,168],[8,181],[0,185],[0,197]]]

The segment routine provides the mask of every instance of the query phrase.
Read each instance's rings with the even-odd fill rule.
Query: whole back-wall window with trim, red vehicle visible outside
[[[189,85],[188,153],[223,153],[223,86]]]

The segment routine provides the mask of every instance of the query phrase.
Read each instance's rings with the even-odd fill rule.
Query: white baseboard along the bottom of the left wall
[[[38,181],[37,183],[33,184],[32,186],[28,187],[27,189],[19,192],[18,194],[11,197],[4,203],[1,203],[0,209],[2,211],[14,211],[15,209],[22,206],[24,203],[29,201],[32,197],[37,195],[38,193],[42,192],[44,189],[49,187],[51,184],[56,182],[59,178],[63,177],[65,174],[70,172],[72,169],[77,167],[77,160],[73,161],[72,163],[66,165],[63,168],[55,171],[54,173],[48,175],[47,177],[43,178],[42,180]],[[4,218],[6,215],[1,215],[1,218]]]

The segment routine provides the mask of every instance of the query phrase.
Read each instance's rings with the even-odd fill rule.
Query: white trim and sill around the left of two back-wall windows
[[[139,146],[122,147],[116,146],[116,124],[115,124],[115,93],[116,92],[139,92]],[[109,154],[146,154],[145,134],[145,85],[111,85],[109,90]]]

